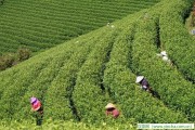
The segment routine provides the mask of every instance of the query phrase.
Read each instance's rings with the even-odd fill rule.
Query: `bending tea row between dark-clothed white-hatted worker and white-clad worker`
[[[176,68],[156,56],[156,17],[136,24],[132,46],[132,68],[135,74],[144,75],[152,88],[159,92],[164,103],[194,120],[194,88]],[[155,69],[154,69],[155,68]]]

